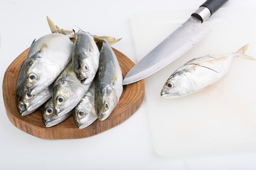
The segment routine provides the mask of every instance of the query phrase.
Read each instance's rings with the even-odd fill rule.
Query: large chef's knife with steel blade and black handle
[[[191,17],[179,26],[166,39],[143,57],[126,74],[123,85],[135,83],[180,57],[200,40],[202,40],[211,30],[203,26],[202,22],[207,20],[228,0],[207,0]]]

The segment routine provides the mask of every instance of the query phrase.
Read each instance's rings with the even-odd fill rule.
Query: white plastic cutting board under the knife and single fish
[[[138,61],[195,10],[134,13],[130,18]],[[256,57],[256,12],[221,8],[203,24],[211,33],[179,59],[146,78],[145,102],[155,150],[188,155],[256,148],[256,61],[236,58],[216,84],[197,94],[161,98],[167,78],[190,59],[236,52]]]

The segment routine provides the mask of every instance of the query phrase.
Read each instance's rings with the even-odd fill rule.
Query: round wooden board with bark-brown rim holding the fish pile
[[[43,125],[40,108],[27,116],[21,116],[16,107],[15,88],[17,76],[22,62],[27,57],[28,50],[29,48],[22,52],[5,71],[2,90],[4,106],[9,120],[18,129],[30,135],[42,139],[77,139],[97,135],[130,118],[139,109],[143,101],[145,81],[141,80],[124,85],[124,92],[120,97],[119,103],[106,120],[96,120],[90,126],[78,129],[74,124],[73,117],[70,116],[64,122],[47,128]],[[123,76],[125,76],[134,63],[115,48],[113,50],[119,61]]]

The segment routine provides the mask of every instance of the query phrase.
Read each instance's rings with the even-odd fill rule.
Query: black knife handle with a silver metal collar
[[[191,16],[197,17],[204,22],[215,13],[228,0],[207,0]]]

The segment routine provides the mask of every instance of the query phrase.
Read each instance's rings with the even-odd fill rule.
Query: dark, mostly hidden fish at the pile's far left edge
[[[16,89],[15,89],[15,94],[16,94],[16,106],[17,110],[22,115],[22,113],[26,113],[27,111],[25,109],[25,105],[23,103],[23,94],[24,94],[24,81],[26,80],[26,64],[25,61],[22,62],[20,66],[20,70],[18,72],[17,76],[17,82],[16,82]]]

